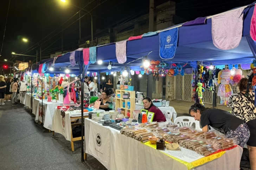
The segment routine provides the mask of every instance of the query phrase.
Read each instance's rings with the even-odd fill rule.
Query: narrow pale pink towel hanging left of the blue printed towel
[[[116,42],[116,59],[119,64],[126,62],[126,42],[127,40]]]

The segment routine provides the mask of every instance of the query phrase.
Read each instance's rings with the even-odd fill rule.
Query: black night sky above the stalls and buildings
[[[60,0],[11,0],[6,25],[4,45],[0,60],[23,60],[23,56],[12,57],[11,52],[17,54],[36,55],[39,47],[32,47],[33,43],[25,43],[21,39],[39,43],[42,49],[42,59],[50,53],[61,50],[61,30],[64,29],[64,49],[78,47],[79,9],[71,4],[91,11],[93,15],[94,34],[107,30],[109,26],[121,24],[149,11],[149,0],[67,0],[70,4],[63,4]],[[167,0],[155,0],[155,6]],[[254,0],[175,0],[176,15],[184,21],[190,21],[200,16],[209,16],[225,12],[235,7],[248,5]],[[89,3],[89,4],[88,4]],[[5,22],[9,0],[0,0],[0,49],[2,46]],[[84,13],[81,13],[81,16]],[[70,17],[72,17],[70,19]],[[69,21],[67,21],[70,19]],[[67,22],[66,22],[67,21]],[[63,24],[66,22],[65,24]],[[74,23],[73,23],[74,22]],[[72,24],[73,23],[73,24]],[[63,25],[62,25],[63,24]],[[82,38],[91,35],[91,18],[87,14],[81,19]],[[51,33],[51,34],[50,34]],[[50,35],[49,35],[50,34]],[[31,48],[32,47],[32,48]],[[34,49],[33,49],[34,48]],[[25,53],[24,53],[25,52]],[[25,60],[33,60],[25,57]],[[7,64],[0,62],[0,64]]]

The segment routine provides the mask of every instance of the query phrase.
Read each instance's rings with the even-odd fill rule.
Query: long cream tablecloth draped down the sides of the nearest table
[[[85,153],[93,155],[108,170],[187,170],[183,163],[120,134],[119,130],[102,126],[88,118],[85,119],[84,126]],[[102,131],[102,128],[105,130]],[[98,136],[101,140],[97,140]],[[108,139],[110,141],[107,141]],[[100,142],[97,143],[97,141]],[[109,149],[101,149],[101,146],[108,143]],[[193,168],[193,170],[238,170],[242,152],[241,147],[227,150],[220,158]],[[106,159],[107,156],[109,160]]]

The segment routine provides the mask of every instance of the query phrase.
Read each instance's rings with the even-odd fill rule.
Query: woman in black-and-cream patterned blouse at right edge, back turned
[[[228,107],[232,109],[232,114],[244,120],[250,130],[250,137],[247,141],[251,169],[256,170],[256,109],[254,106],[254,92],[249,86],[249,95],[246,96],[248,79],[242,78],[239,83],[239,93],[232,94],[229,98]]]

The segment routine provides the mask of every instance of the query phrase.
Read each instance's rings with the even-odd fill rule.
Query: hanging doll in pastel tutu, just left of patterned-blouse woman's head
[[[228,69],[219,71],[217,83],[220,84],[217,94],[221,100],[220,104],[227,106],[229,97],[233,94],[232,88],[229,84],[233,84],[233,80],[231,79],[231,71]]]

